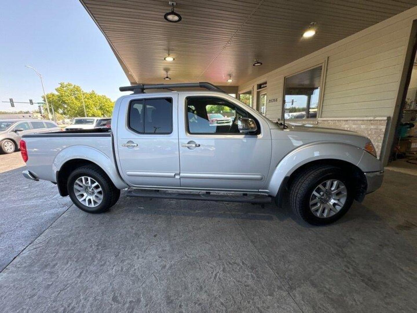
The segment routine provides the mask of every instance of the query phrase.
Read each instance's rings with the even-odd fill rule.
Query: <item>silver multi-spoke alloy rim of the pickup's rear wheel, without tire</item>
[[[103,189],[95,179],[88,176],[75,180],[74,194],[86,207],[97,207],[103,201]]]

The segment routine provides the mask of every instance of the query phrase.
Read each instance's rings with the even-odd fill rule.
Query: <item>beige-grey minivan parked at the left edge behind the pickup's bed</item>
[[[0,151],[3,153],[16,151],[23,135],[59,130],[59,126],[53,121],[40,119],[0,120]]]

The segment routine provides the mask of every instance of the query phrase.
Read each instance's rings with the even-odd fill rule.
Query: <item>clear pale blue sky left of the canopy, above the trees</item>
[[[42,101],[60,82],[113,101],[130,83],[103,34],[78,0],[0,0],[0,101]],[[15,103],[16,111],[37,109]],[[0,102],[0,111],[11,111]]]

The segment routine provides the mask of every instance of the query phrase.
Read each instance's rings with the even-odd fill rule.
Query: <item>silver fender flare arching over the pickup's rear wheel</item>
[[[103,169],[118,189],[127,188],[128,185],[123,181],[123,179],[121,179],[116,168],[116,160],[113,157],[113,151],[109,149],[106,153],[91,146],[69,146],[61,150],[55,156],[52,164],[54,174],[53,177],[56,177],[56,173],[60,170],[63,164],[65,164],[65,162],[73,159],[83,159],[93,162]]]

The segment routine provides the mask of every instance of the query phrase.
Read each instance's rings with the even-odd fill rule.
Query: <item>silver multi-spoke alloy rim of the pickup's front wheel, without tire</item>
[[[310,197],[310,210],[320,218],[332,217],[344,206],[347,188],[337,179],[329,179],[314,188]]]

